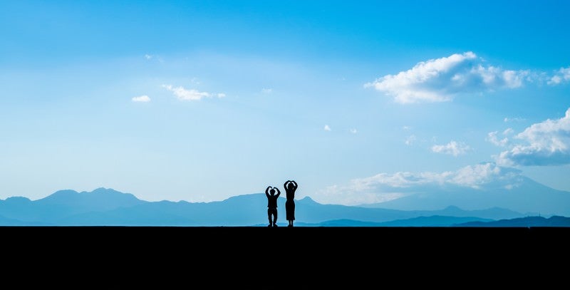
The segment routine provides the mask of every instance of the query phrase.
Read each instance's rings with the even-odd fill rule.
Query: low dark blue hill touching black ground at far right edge
[[[570,227],[570,217],[519,217],[492,222],[466,222],[457,227]]]

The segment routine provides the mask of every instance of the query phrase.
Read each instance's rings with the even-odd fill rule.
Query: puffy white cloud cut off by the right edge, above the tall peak
[[[495,156],[499,165],[570,164],[570,108],[564,117],[533,124],[514,138],[522,143]]]

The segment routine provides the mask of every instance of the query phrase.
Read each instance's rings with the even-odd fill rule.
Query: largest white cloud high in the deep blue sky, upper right
[[[416,64],[408,71],[386,75],[371,83],[398,103],[443,102],[460,93],[480,93],[499,88],[519,88],[529,71],[509,71],[494,66],[483,66],[475,53],[455,53]]]

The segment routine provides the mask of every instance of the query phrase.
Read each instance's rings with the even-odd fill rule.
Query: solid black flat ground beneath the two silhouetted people
[[[0,261],[26,273],[213,283],[199,289],[266,279],[395,279],[401,288],[452,278],[460,289],[489,279],[509,288],[539,279],[544,288],[567,277],[570,263],[569,227],[0,227],[0,237]]]

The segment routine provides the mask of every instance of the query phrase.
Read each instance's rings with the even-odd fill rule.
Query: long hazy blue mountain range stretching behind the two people
[[[252,226],[266,224],[266,202],[264,193],[239,195],[218,202],[147,202],[132,194],[105,188],[93,192],[61,190],[41,200],[31,201],[26,197],[0,200],[0,225]],[[279,225],[286,224],[284,204],[285,198],[280,197]],[[321,226],[330,226],[342,220],[354,221],[351,224],[356,226],[447,226],[514,217],[524,217],[524,214],[500,208],[403,211],[320,204],[310,197],[296,200],[299,226],[321,223]]]

